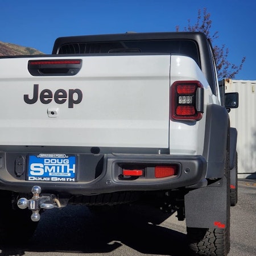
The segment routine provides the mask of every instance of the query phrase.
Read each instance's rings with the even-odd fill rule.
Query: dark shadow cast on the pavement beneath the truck
[[[29,243],[16,247],[14,235],[13,246],[1,246],[0,255],[18,256],[25,251],[106,254],[123,245],[142,254],[187,255],[185,234],[155,225],[169,216],[134,205],[103,212],[78,205],[52,209],[42,214]]]

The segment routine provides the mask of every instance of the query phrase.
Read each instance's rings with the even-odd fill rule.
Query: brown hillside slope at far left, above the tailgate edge
[[[34,48],[18,46],[16,44],[11,44],[11,43],[3,43],[0,41],[0,56],[36,55],[36,54],[44,54],[44,53]]]

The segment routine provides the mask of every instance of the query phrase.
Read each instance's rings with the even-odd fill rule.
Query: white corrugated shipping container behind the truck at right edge
[[[230,125],[236,127],[238,177],[256,178],[256,81],[225,79],[225,92],[238,92],[238,108],[231,109]]]

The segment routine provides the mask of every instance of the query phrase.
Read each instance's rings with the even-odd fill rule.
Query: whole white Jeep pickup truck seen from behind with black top
[[[186,221],[193,254],[228,254],[238,95],[204,34],[58,38],[52,55],[1,57],[0,95],[1,242],[44,209],[146,201]]]

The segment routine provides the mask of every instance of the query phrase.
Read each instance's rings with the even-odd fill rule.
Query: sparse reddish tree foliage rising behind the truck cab
[[[188,19],[188,26],[184,27],[184,31],[190,32],[203,32],[207,38],[210,40],[213,46],[213,54],[216,61],[216,68],[219,79],[230,78],[233,79],[239,71],[242,69],[242,65],[245,62],[245,57],[242,58],[241,64],[236,65],[228,61],[229,49],[226,48],[225,44],[222,46],[214,45],[213,42],[218,38],[218,32],[210,33],[210,28],[212,27],[212,20],[210,19],[210,13],[207,12],[207,8],[198,10],[197,21],[194,25],[191,25],[191,20]],[[179,31],[179,26],[176,26],[176,31]]]

